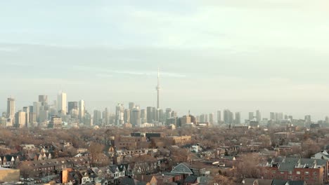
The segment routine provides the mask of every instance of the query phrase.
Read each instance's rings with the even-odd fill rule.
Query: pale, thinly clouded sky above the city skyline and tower
[[[0,110],[63,90],[86,108],[329,115],[327,0],[0,1]]]

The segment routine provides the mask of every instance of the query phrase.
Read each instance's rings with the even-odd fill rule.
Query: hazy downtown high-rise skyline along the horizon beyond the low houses
[[[157,89],[157,90],[160,90]],[[112,113],[105,108],[93,110],[93,113],[86,111],[85,101],[67,102],[66,93],[58,93],[57,100],[49,103],[47,95],[39,95],[39,99],[30,106],[22,107],[15,111],[15,99],[8,97],[7,111],[0,118],[1,127],[14,128],[63,128],[80,126],[122,126],[122,127],[154,127],[159,125],[170,126],[171,128],[181,126],[209,126],[222,125],[225,127],[250,126],[259,127],[262,125],[301,125],[314,127],[317,125],[329,125],[328,116],[325,120],[314,123],[311,115],[306,115],[304,119],[294,119],[291,115],[283,112],[270,112],[269,118],[262,118],[259,110],[249,112],[244,122],[241,121],[241,112],[233,112],[229,109],[214,113],[200,114],[179,117],[176,111],[171,108],[158,109],[157,107],[146,107],[142,109],[138,104],[129,102],[128,107],[118,103],[115,112]],[[217,119],[216,119],[217,118]]]

